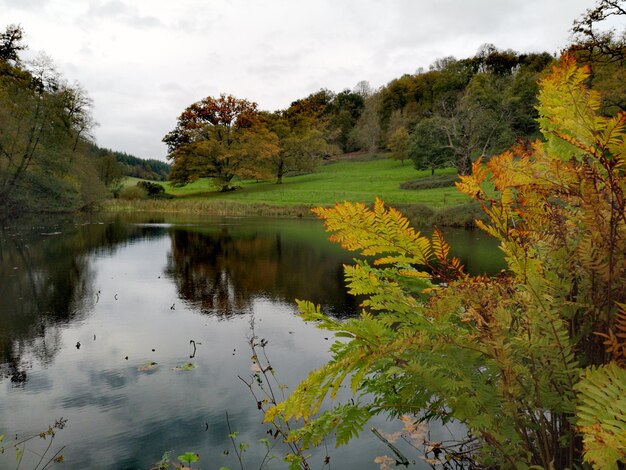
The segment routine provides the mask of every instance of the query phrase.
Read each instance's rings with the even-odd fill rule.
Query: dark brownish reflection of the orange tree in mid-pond
[[[319,224],[308,228],[320,229]],[[174,227],[166,272],[179,296],[204,313],[250,312],[253,300],[263,297],[289,303],[308,299],[335,315],[351,315],[357,303],[346,292],[341,264],[349,256],[328,253],[320,235],[311,243],[311,237],[304,241],[289,238],[280,227]]]

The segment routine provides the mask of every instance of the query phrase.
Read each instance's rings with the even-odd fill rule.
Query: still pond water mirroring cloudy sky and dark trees
[[[449,230],[447,238],[468,270],[503,267],[496,243],[482,233]],[[327,241],[316,220],[144,214],[5,222],[5,446],[63,417],[67,424],[46,454],[61,451],[59,468],[147,469],[166,451],[197,452],[194,468],[239,468],[228,412],[237,439],[251,444],[245,468],[258,468],[268,426],[238,378],[252,374],[250,321],[269,341],[280,382],[293,388],[329,358],[332,340],[296,316],[294,299],[338,317],[355,314],[358,301],[342,281],[352,258]],[[187,362],[195,368],[175,370]],[[371,425],[401,428],[383,417]],[[441,439],[455,429],[431,432]],[[34,468],[48,442],[29,441],[20,468]],[[323,464],[327,452],[330,466]],[[376,456],[393,455],[368,429],[347,447],[329,442],[311,453],[313,468],[335,469],[378,468]],[[0,468],[16,466],[14,451],[0,455]],[[278,459],[268,466],[284,467]]]

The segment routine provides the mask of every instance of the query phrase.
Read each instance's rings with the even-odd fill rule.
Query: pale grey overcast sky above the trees
[[[164,160],[189,104],[229,93],[284,109],[328,88],[376,88],[485,43],[561,50],[592,0],[0,0],[94,100],[101,146]]]

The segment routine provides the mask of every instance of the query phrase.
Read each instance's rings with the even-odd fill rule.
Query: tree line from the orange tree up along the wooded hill
[[[518,139],[538,135],[537,80],[554,60],[485,45],[471,58],[437,60],[379,90],[321,89],[284,110],[259,111],[232,95],[187,107],[163,141],[173,161],[171,181],[212,178],[220,190],[235,178],[275,178],[312,171],[341,153],[390,150],[417,169],[471,171]]]

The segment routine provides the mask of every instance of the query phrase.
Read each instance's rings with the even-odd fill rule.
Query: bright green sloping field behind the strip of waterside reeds
[[[437,174],[454,173],[454,169]],[[283,184],[271,181],[233,181],[236,191],[219,193],[208,180],[182,188],[165,183],[166,191],[180,199],[238,202],[271,205],[331,205],[337,201],[370,203],[376,196],[388,204],[424,204],[445,207],[467,202],[455,187],[426,190],[400,189],[400,183],[430,176],[416,171],[410,162],[395,160],[340,161],[320,166],[315,173],[284,178]]]

